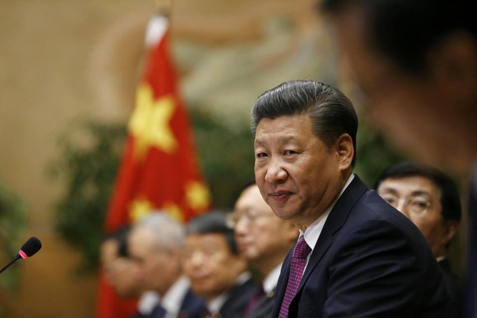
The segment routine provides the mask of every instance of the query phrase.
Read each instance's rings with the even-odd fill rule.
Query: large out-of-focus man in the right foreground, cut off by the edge
[[[323,0],[369,113],[397,145],[470,180],[467,317],[477,317],[477,23],[471,0]],[[474,172],[472,172],[474,170]]]

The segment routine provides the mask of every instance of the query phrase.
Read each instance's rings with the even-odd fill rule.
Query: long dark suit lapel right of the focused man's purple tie
[[[346,190],[344,190],[326,219],[323,230],[319,235],[315,248],[312,251],[310,261],[308,262],[305,273],[303,274],[297,295],[302,290],[308,277],[310,277],[310,274],[313,272],[313,269],[318,265],[324,253],[333,242],[333,234],[343,226],[354,204],[366,192],[366,190],[368,190],[366,184],[364,184],[355,174],[353,181],[351,181]],[[289,266],[288,272],[290,272]]]

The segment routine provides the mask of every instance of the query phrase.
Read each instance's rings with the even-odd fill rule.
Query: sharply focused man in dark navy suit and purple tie
[[[265,202],[300,229],[272,318],[445,317],[445,280],[419,230],[352,173],[350,100],[291,81],[252,109],[255,178]]]

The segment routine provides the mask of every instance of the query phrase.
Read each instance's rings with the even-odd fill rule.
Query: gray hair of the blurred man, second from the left
[[[148,230],[154,234],[155,244],[158,249],[169,249],[184,245],[184,227],[169,217],[164,211],[152,211],[141,219],[134,226],[134,230],[140,229]]]

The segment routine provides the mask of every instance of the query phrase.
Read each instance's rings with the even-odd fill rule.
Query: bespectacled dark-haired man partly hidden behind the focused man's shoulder
[[[387,168],[375,189],[389,204],[407,216],[422,232],[445,274],[453,317],[458,317],[460,288],[446,252],[461,220],[457,186],[442,171],[413,162]]]

